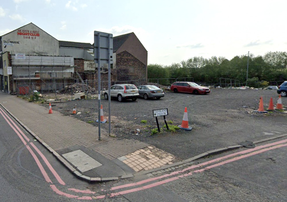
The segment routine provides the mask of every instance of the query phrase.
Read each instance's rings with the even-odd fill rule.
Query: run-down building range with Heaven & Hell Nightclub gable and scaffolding
[[[113,37],[111,84],[147,79],[147,61],[148,52],[133,32]],[[7,93],[18,92],[23,83],[31,90],[59,90],[80,79],[96,88],[96,65],[94,45],[59,41],[33,23],[0,36],[0,90]],[[104,88],[107,69],[108,64],[102,64]]]

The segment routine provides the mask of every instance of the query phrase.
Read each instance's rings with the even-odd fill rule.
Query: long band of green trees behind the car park
[[[224,57],[193,57],[171,65],[148,65],[148,78],[189,78],[199,84],[219,84],[219,78],[239,80],[246,83],[248,56],[235,56],[231,60]],[[287,80],[287,52],[268,52],[255,57],[249,54],[248,81],[250,87],[264,87],[260,81]],[[257,79],[258,80],[257,80]],[[188,81],[188,80],[187,80]],[[162,85],[170,85],[175,79],[159,80]],[[274,85],[274,84],[272,84]],[[225,86],[223,86],[225,87]]]

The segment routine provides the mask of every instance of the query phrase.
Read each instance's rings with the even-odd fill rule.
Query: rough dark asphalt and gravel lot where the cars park
[[[268,114],[255,113],[259,107],[259,98],[263,97],[264,107],[268,108],[272,97],[276,105],[278,94],[275,90],[252,89],[213,89],[209,95],[193,95],[188,93],[166,92],[160,100],[144,100],[135,102],[111,100],[112,134],[118,138],[136,139],[177,156],[178,160],[201,154],[206,150],[232,146],[238,143],[255,141],[274,134],[286,132],[283,112]],[[285,106],[286,98],[282,98]],[[101,100],[104,117],[108,117],[108,101]],[[81,114],[71,115],[74,106]],[[53,110],[64,115],[74,116],[84,122],[97,126],[97,100],[75,100],[64,103],[53,103]],[[189,125],[192,131],[178,130],[166,132],[164,121],[159,117],[162,133],[151,135],[157,128],[152,110],[168,108],[167,121],[178,126],[182,122],[184,108],[188,110]],[[141,123],[145,120],[146,123]],[[101,125],[102,132],[107,133],[108,124]],[[135,134],[136,129],[139,134]],[[273,132],[272,132],[273,131]]]

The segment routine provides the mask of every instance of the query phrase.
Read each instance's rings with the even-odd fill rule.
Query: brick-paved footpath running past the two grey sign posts
[[[49,114],[47,108],[15,95],[0,92],[0,103],[55,151],[79,145],[113,160],[149,146],[137,140],[109,137],[102,130],[98,140],[98,127],[56,111]]]

